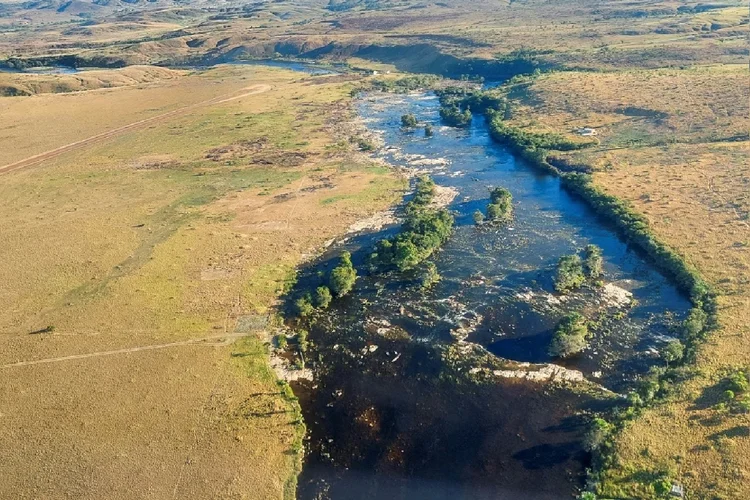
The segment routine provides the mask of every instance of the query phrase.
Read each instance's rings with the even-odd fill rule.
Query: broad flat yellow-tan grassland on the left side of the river
[[[402,187],[340,144],[350,85],[220,67],[0,99],[3,164],[190,107],[2,174],[0,497],[293,494],[271,308]]]

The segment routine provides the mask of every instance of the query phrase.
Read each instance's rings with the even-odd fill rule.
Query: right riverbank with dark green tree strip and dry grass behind
[[[709,83],[717,74],[726,75],[726,85]],[[740,333],[746,331],[750,297],[743,243],[750,237],[742,181],[747,169],[737,162],[748,142],[732,132],[747,107],[718,115],[714,108],[717,103],[747,101],[737,95],[739,84],[731,84],[737,78],[739,68],[731,67],[640,75],[552,73],[511,85],[505,94],[512,108],[506,127],[572,141],[592,141],[579,131],[593,130],[593,145],[586,149],[526,156],[532,164],[561,175],[569,188],[603,210],[630,241],[672,272],[705,312],[705,326],[715,329],[704,344],[706,332],[697,334],[691,327],[693,333],[683,337],[692,344],[686,367],[661,383],[662,397],[653,408],[623,425],[612,452],[616,460],[602,468],[604,496],[651,498],[649,484],[628,479],[638,471],[655,478],[666,475],[691,494],[746,494],[746,486],[732,472],[747,461],[742,451],[746,436],[733,433],[723,447],[717,447],[715,438],[731,433],[741,418],[722,414],[721,378],[731,367],[744,366],[750,354]],[[608,83],[599,85],[599,80]],[[659,82],[667,81],[675,87],[665,93]],[[653,99],[641,88],[644,85],[659,85],[661,99]],[[577,94],[581,86],[590,89],[585,99]],[[677,105],[686,88],[692,96],[688,111]],[[630,108],[609,100],[614,89]],[[701,124],[709,121],[720,121],[722,132],[707,135]],[[636,129],[649,130],[650,137],[622,144]],[[728,141],[722,134],[734,139]],[[583,166],[592,174],[560,172],[551,163],[560,168]],[[675,380],[681,383],[675,386]],[[717,462],[725,465],[717,469]],[[716,477],[723,480],[707,479]]]

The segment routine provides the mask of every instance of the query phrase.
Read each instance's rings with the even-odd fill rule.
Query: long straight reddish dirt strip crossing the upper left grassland
[[[71,142],[69,144],[66,144],[64,146],[60,146],[59,148],[51,149],[49,151],[45,151],[44,153],[39,153],[34,156],[30,156],[28,158],[25,158],[23,160],[19,160],[14,163],[9,163],[8,165],[4,165],[0,167],[0,175],[1,174],[7,174],[9,172],[13,172],[16,170],[21,170],[23,168],[32,167],[34,165],[38,165],[39,163],[42,163],[45,160],[49,160],[50,158],[55,158],[57,156],[60,156],[61,154],[67,153],[69,151],[75,151],[81,148],[85,148],[86,146],[89,146],[91,144],[95,144],[97,142],[110,139],[112,137],[115,137],[119,134],[122,134],[124,132],[129,132],[131,130],[136,130],[138,128],[141,128],[146,125],[151,125],[154,123],[158,123],[161,121],[164,121],[168,118],[173,118],[175,116],[179,116],[182,114],[185,114],[189,111],[192,111],[194,109],[202,108],[205,106],[212,106],[216,104],[223,104],[230,101],[235,101],[237,99],[242,99],[243,97],[256,95],[256,94],[262,94],[264,92],[268,92],[271,90],[270,85],[253,85],[252,87],[247,87],[243,90],[246,90],[248,92],[244,92],[239,95],[231,95],[231,94],[225,94],[222,96],[214,97],[212,99],[209,99],[207,101],[202,101],[196,104],[191,104],[189,106],[185,106],[179,109],[175,109],[172,111],[169,111],[167,113],[163,113],[161,115],[152,116],[151,118],[146,118],[144,120],[139,120],[137,122],[129,123],[127,125],[123,125],[122,127],[118,127],[112,130],[108,130],[106,132],[102,132],[101,134],[93,135],[91,137],[87,137],[86,139],[82,139],[80,141]]]

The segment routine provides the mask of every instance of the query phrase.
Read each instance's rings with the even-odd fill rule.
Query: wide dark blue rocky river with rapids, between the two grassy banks
[[[465,130],[442,127],[429,93],[366,94],[356,107],[384,141],[379,156],[458,191],[456,229],[433,258],[442,280],[426,292],[408,273],[368,274],[374,242],[394,228],[352,238],[301,271],[298,289],[316,286],[345,248],[360,278],[310,327],[315,382],[295,386],[309,435],[299,498],[570,498],[588,461],[585,415],[661,363],[656,351],[689,302],[559,179],[494,144],[482,117]],[[405,113],[435,135],[403,130]],[[495,186],[513,194],[514,219],[477,228],[472,214]],[[604,286],[555,294],[557,260],[589,243],[603,249]],[[586,382],[512,378],[513,362],[557,363],[547,349],[571,310],[598,320],[590,348],[562,372]],[[470,380],[471,361],[456,368],[455,357],[470,359],[472,345],[509,369]]]

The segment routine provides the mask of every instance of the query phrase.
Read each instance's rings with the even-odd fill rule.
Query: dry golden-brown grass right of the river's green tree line
[[[645,214],[658,237],[719,293],[721,328],[701,352],[698,376],[625,429],[619,466],[606,476],[610,484],[627,483],[639,471],[669,470],[691,498],[750,496],[750,436],[736,432],[746,429],[746,417],[696,402],[711,400],[724,370],[750,359],[746,83],[746,68],[712,66],[554,73],[511,93],[515,125],[571,138],[578,127],[597,127],[600,144],[570,156],[594,166],[596,184]]]

